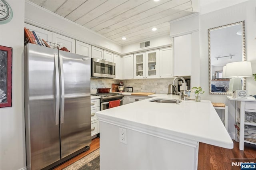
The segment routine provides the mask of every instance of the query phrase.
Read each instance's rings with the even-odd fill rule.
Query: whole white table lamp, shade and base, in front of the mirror
[[[252,76],[252,65],[250,61],[238,61],[227,63],[225,69],[225,77],[230,77],[228,91],[232,93],[236,90],[242,90],[241,77]]]

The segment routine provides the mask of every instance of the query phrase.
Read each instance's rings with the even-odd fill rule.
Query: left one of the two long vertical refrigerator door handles
[[[56,117],[55,125],[59,125],[60,120],[60,80],[59,80],[59,65],[58,65],[58,54],[54,55],[55,63],[55,88],[56,88]]]

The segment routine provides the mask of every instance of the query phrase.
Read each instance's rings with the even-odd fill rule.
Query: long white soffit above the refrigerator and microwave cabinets
[[[114,53],[122,53],[121,45],[92,32],[72,22],[62,16],[59,16],[49,10],[46,10],[28,0],[25,1],[25,22],[44,28],[46,30],[62,34],[81,42],[108,49]]]

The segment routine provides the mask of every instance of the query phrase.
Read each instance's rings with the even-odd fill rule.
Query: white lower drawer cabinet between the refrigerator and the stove
[[[100,111],[100,99],[91,99],[91,136],[100,132],[100,123],[96,116],[97,111]]]

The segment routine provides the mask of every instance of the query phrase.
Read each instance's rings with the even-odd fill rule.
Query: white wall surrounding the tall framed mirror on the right
[[[212,102],[226,103],[228,105],[228,132],[234,135],[234,113],[235,103],[229,101],[226,95],[209,95],[208,91],[208,28],[214,28],[226,24],[245,20],[245,36],[246,36],[246,58],[252,62],[252,71],[256,72],[256,18],[255,18],[256,0],[250,0],[203,14],[200,16],[200,84],[204,91],[202,99]],[[246,89],[249,94],[256,93],[256,81],[252,77],[246,78]]]

